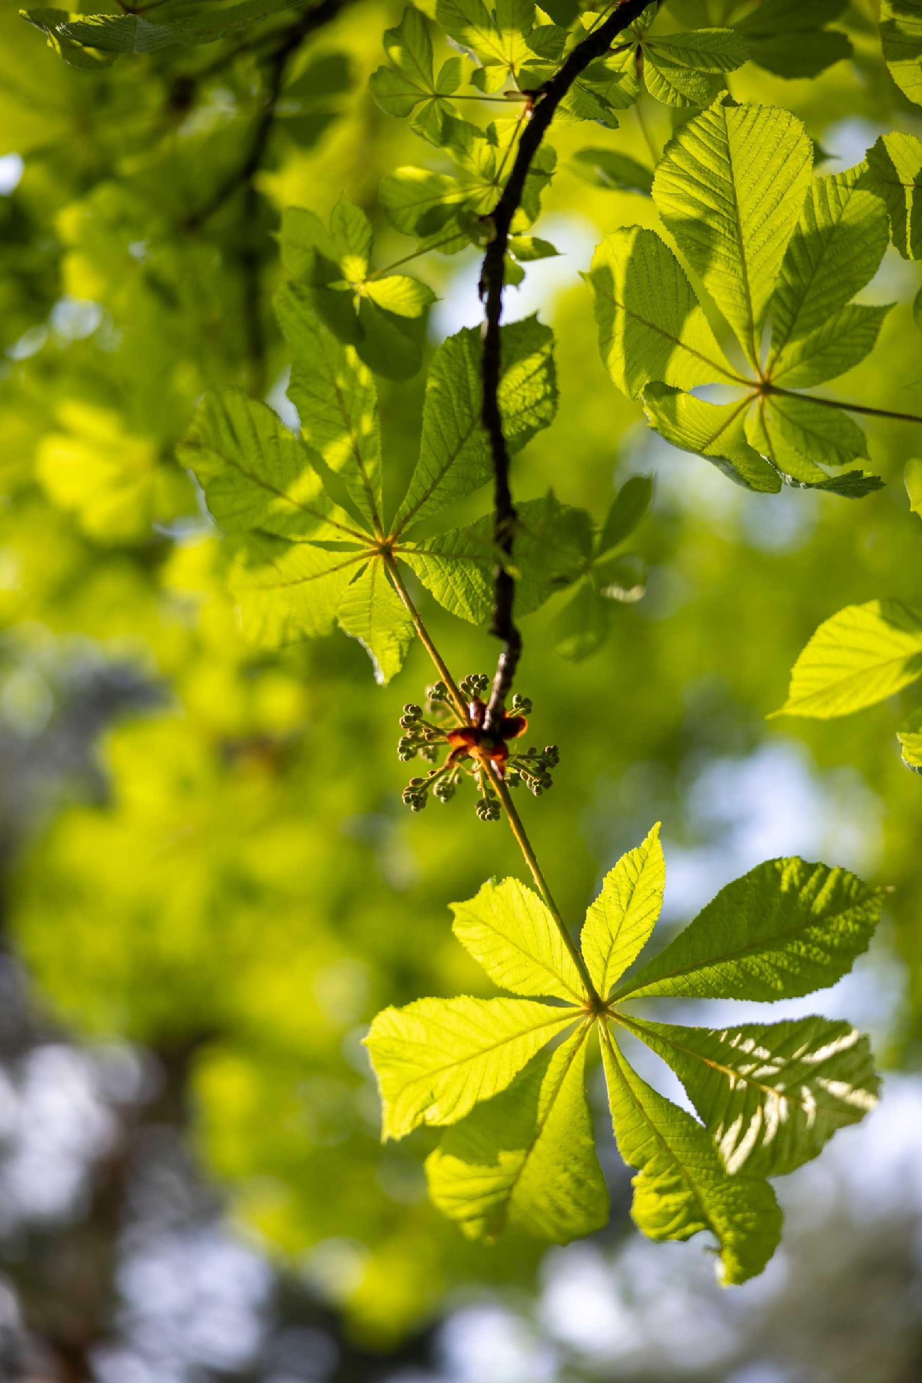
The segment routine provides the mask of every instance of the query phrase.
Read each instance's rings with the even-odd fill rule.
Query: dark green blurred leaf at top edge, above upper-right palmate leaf
[[[760,68],[780,77],[816,77],[852,57],[847,36],[825,28],[845,8],[846,0],[762,0],[735,29]]]

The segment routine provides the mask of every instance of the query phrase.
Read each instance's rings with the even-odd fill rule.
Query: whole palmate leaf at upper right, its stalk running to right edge
[[[694,241],[698,230],[688,230],[676,216],[676,207],[683,205],[683,187],[693,201],[699,196],[695,178],[701,167],[693,166],[686,155],[688,149],[711,148],[715,129],[720,133],[720,123],[715,126],[717,111],[733,120],[745,116],[746,140],[752,147],[771,147],[778,137],[778,112],[717,102],[683,127],[683,147],[677,145],[679,137],[669,147],[672,154],[668,151],[657,177],[669,159],[672,170],[666,169],[664,183],[657,184],[659,194],[654,185],[654,198],[662,203],[659,209],[666,224],[672,217],[670,228],[680,248],[705,282],[711,250],[704,242],[683,243],[688,235]],[[788,130],[788,136],[802,152],[806,138],[802,131]],[[778,243],[766,250],[770,231],[751,205],[748,173],[737,142],[728,138],[720,144],[717,140],[717,154],[712,158],[719,163],[717,155],[722,151],[727,155],[730,149],[724,194],[735,196],[740,192],[741,196],[741,219],[735,228],[724,225],[723,259],[713,263],[734,260],[735,289],[730,293],[724,285],[722,306],[733,319],[735,304],[734,326],[744,347],[740,313],[752,311],[753,322],[759,324],[758,339],[763,314],[771,313],[773,344],[763,379],[746,379],[728,365],[676,256],[655,232],[637,227],[607,236],[590,271],[603,361],[623,393],[643,397],[647,419],[661,436],[675,447],[706,456],[738,484],[770,492],[778,491],[784,481],[850,499],[863,498],[882,488],[878,476],[849,470],[829,477],[822,469],[865,458],[868,445],[863,430],[834,401],[793,393],[789,386],[806,387],[834,379],[874,349],[890,308],[850,304],[849,297],[874,275],[886,248],[882,205],[879,199],[875,205],[865,191],[863,167],[816,178],[809,189],[805,184],[796,195],[792,191],[791,199],[785,192],[788,174],[784,174],[780,188],[770,187],[775,198],[785,201],[781,235]],[[755,162],[753,183],[759,184],[764,177],[764,159]],[[774,171],[770,173],[774,177]],[[806,199],[802,198],[805,189]],[[805,202],[799,216],[793,206],[798,196]],[[746,209],[752,214],[744,217]],[[753,275],[758,277],[769,260],[773,266],[781,264],[780,274],[771,267],[763,288],[756,292]],[[771,295],[767,300],[766,286]],[[720,297],[716,288],[713,290]],[[741,308],[741,303],[749,307]],[[735,402],[720,405],[687,393],[704,383],[730,383],[745,393]]]

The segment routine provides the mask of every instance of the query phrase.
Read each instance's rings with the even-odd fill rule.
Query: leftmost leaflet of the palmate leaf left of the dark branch
[[[329,499],[315,454],[265,404],[242,390],[206,394],[177,447],[200,480],[217,523],[231,534],[261,530],[279,538],[359,537]]]

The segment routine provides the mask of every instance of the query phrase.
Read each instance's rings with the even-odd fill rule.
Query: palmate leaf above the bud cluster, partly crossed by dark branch
[[[354,230],[361,232],[361,224]],[[361,243],[359,234],[357,248]],[[224,390],[206,396],[180,456],[202,481],[235,550],[229,584],[245,633],[278,646],[328,633],[339,621],[366,647],[379,680],[387,682],[413,638],[387,566],[406,561],[446,609],[482,622],[493,599],[492,517],[398,542],[399,531],[391,532],[383,519],[370,372],[354,347],[321,324],[304,285],[288,284],[276,308],[294,357],[289,396],[303,437],[293,437],[264,404]],[[431,517],[491,474],[480,422],[480,349],[478,333],[462,332],[435,353],[420,465],[411,483],[412,503],[401,508],[404,521]],[[534,318],[513,322],[502,328],[502,354],[500,407],[517,449],[554,416],[552,335]],[[553,495],[520,506],[514,552],[520,614],[574,579],[581,535],[589,527],[583,510]]]

